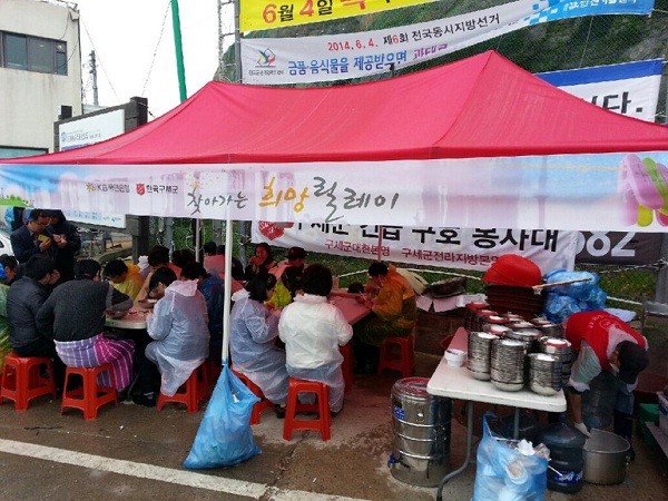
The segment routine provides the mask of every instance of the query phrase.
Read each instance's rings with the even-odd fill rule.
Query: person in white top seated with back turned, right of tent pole
[[[345,389],[338,346],[351,341],[353,327],[341,310],[327,302],[332,292],[330,268],[308,266],[302,276],[302,288],[304,293],[283,310],[278,323],[287,373],[291,377],[325,383],[330,387],[330,411],[336,415],[343,409]]]

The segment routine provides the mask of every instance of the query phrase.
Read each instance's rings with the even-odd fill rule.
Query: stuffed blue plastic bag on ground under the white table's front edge
[[[512,446],[517,441],[490,430],[490,416],[494,414],[487,412],[483,416],[473,501],[543,500],[548,487],[548,459],[519,452]]]

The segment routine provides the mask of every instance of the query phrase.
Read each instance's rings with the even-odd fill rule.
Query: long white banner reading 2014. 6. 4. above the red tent
[[[654,0],[519,0],[418,24],[358,33],[244,38],[243,82],[310,84],[400,70],[528,26],[601,14],[647,14]]]

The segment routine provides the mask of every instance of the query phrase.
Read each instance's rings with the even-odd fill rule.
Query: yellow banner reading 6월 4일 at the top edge
[[[308,22],[370,14],[433,0],[239,0],[242,31],[269,30]]]

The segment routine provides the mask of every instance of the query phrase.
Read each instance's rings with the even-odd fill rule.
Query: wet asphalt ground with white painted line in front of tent
[[[416,375],[429,376],[433,355],[418,355]],[[387,468],[394,441],[390,395],[393,372],[357,376],[343,412],[332,422],[332,439],[296,432],[283,440],[283,421],[272,411],[253,426],[262,453],[229,469],[187,470],[183,462],[204,415],[168,405],[163,411],[135,404],[101,407],[96,421],[81,411],[60,415],[60,401],[36,399],[28,411],[0,406],[0,499],[11,500],[433,500],[435,488],[396,480]],[[487,410],[475,405],[475,436]],[[451,466],[464,460],[463,403],[453,402]],[[637,459],[623,483],[586,483],[576,494],[547,491],[547,500],[666,500],[668,460],[658,446],[635,438]],[[475,464],[451,480],[444,500],[473,497]]]

